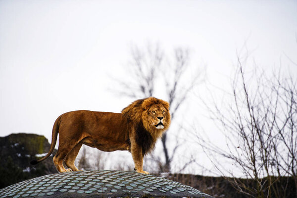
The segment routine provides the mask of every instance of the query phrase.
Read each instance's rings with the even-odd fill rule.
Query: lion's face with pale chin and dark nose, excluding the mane
[[[166,124],[167,110],[162,104],[153,104],[148,109],[148,119],[157,129],[163,129]]]

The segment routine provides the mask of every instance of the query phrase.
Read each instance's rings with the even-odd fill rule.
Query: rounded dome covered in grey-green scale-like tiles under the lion
[[[0,198],[212,198],[162,177],[117,170],[85,170],[45,175],[0,190]]]

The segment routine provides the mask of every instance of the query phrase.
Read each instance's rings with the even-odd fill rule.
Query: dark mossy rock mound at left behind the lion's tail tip
[[[0,138],[0,188],[42,175],[56,173],[52,156],[43,163],[31,165],[49,151],[50,144],[44,136],[35,134],[11,134]],[[55,153],[55,151],[54,151]],[[37,155],[36,155],[37,154]],[[40,154],[40,155],[38,155]]]

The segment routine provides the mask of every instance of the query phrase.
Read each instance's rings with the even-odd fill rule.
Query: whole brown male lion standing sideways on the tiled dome
[[[59,172],[78,171],[75,158],[87,145],[102,151],[128,150],[135,170],[143,170],[143,159],[170,125],[169,103],[154,97],[138,99],[121,113],[78,110],[60,115],[54,122],[51,145],[46,156],[32,160],[37,164],[47,159],[54,150],[59,134],[58,150],[53,163]],[[65,169],[63,161],[68,167]]]

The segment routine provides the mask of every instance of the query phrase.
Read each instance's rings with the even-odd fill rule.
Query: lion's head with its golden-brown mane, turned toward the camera
[[[142,122],[145,129],[154,135],[166,131],[171,120],[169,103],[154,97],[132,102],[122,110],[122,115],[130,122]]]

